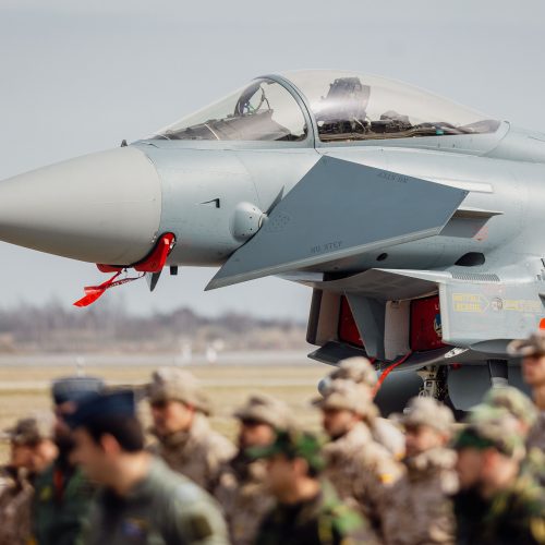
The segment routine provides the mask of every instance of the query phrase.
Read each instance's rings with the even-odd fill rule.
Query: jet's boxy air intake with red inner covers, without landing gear
[[[468,363],[507,359],[510,340],[545,326],[542,277],[513,281],[495,274],[372,269],[303,283],[320,293],[313,300],[310,342],[347,341],[378,361],[412,352],[412,364],[414,353],[441,346],[464,349]]]

